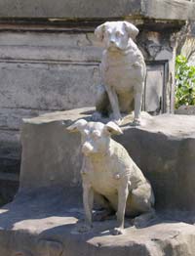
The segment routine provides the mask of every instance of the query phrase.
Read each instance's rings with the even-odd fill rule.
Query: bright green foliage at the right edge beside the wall
[[[184,56],[176,57],[176,108],[195,105],[195,66]]]

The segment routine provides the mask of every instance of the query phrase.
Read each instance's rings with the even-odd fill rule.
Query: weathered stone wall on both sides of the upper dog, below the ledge
[[[170,31],[137,25],[137,44],[147,61],[143,108],[169,112],[175,62]],[[22,118],[95,105],[102,52],[95,27],[0,32],[0,172],[5,180],[11,175],[13,183],[18,181]]]

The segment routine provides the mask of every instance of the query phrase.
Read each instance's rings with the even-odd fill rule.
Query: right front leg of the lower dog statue
[[[124,232],[124,218],[126,202],[129,195],[129,183],[122,184],[118,189],[118,210],[117,210],[117,227],[113,231],[113,235],[122,235]]]

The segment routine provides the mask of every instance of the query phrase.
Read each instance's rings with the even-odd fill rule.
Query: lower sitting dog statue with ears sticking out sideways
[[[98,193],[107,209],[117,212],[117,226],[113,235],[124,230],[124,216],[135,218],[135,225],[142,226],[153,216],[154,195],[149,182],[127,150],[111,139],[122,130],[114,122],[87,122],[80,119],[67,127],[70,132],[80,132],[84,154],[81,170],[83,202],[87,232],[92,227],[94,192]]]

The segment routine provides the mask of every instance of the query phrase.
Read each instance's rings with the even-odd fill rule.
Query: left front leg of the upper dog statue
[[[109,102],[110,102],[110,105],[111,105],[111,108],[113,111],[114,121],[117,124],[120,124],[121,120],[122,120],[122,116],[120,113],[119,101],[118,101],[117,94],[116,94],[115,90],[110,86],[106,86],[106,91],[107,91]]]

